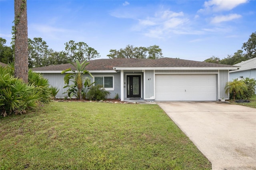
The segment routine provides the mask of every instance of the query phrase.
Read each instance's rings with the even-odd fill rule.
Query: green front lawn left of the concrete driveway
[[[0,117],[0,169],[211,169],[158,105],[54,102]]]

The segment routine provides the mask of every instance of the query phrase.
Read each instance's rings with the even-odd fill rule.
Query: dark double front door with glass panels
[[[127,97],[128,98],[140,98],[141,79],[140,75],[127,75]]]

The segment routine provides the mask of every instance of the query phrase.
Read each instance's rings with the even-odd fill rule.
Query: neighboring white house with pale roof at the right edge
[[[242,61],[234,66],[239,66],[240,68],[229,72],[230,81],[246,77],[256,80],[256,58]]]

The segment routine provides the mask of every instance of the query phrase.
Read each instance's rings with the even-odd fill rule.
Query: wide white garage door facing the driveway
[[[156,74],[156,101],[216,101],[216,74]]]

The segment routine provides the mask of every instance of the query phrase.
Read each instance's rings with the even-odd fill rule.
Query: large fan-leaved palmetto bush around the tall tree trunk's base
[[[49,103],[52,97],[49,81],[39,73],[28,72],[29,83],[14,77],[14,65],[0,66],[0,115],[26,113],[38,102]]]

